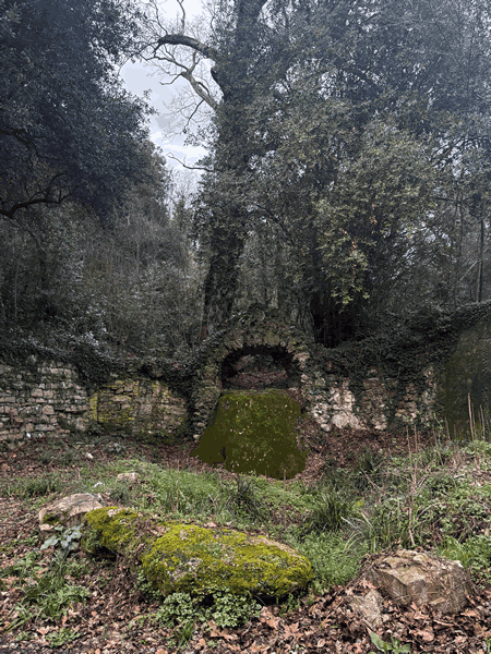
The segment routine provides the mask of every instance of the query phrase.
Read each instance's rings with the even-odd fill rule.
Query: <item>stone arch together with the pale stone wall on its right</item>
[[[258,354],[278,362],[276,377],[282,378],[282,387],[300,391],[307,413],[325,432],[335,427],[422,426],[433,416],[436,383],[433,367],[424,365],[424,361],[405,376],[397,366],[382,371],[373,363],[367,364],[363,359],[372,361],[371,354],[339,350],[335,365],[332,351],[315,344],[280,317],[258,311],[203,347],[192,396],[195,440],[205,431],[223,388],[227,387],[225,371],[230,370],[227,362]],[[275,376],[274,371],[263,376],[267,382]],[[249,378],[252,377],[250,374]]]

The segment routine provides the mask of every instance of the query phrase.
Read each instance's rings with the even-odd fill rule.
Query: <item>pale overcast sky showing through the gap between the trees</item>
[[[161,11],[171,16],[176,16],[179,11],[179,4],[176,0],[167,0],[167,2],[160,0],[159,4]],[[184,8],[188,16],[197,15],[202,11],[201,0],[184,0]],[[159,83],[158,76],[152,76],[152,68],[143,63],[127,63],[121,70],[121,76],[128,90],[135,95],[142,96],[144,90],[152,90],[148,101],[158,112],[151,119],[152,141],[161,147],[164,154],[171,153],[178,159],[185,160],[188,166],[196,164],[200,157],[206,153],[204,148],[185,146],[183,134],[175,136],[169,141],[161,131],[166,122],[171,118],[165,105],[170,101],[171,95],[177,92],[176,85],[163,86]],[[182,84],[185,84],[185,82],[182,81]],[[171,168],[180,168],[177,161],[170,158],[167,158],[167,162]]]

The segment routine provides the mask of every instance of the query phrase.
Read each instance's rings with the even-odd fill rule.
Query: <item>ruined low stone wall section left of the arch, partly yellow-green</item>
[[[63,436],[96,424],[173,436],[185,420],[185,401],[160,380],[115,378],[89,393],[67,363],[0,364],[0,440]]]

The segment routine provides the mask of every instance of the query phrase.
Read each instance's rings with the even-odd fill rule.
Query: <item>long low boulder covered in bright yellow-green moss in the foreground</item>
[[[146,579],[164,595],[216,591],[284,597],[312,580],[309,560],[265,536],[180,522],[146,523],[128,509],[87,513],[87,542],[139,558]],[[136,561],[135,561],[136,562]]]

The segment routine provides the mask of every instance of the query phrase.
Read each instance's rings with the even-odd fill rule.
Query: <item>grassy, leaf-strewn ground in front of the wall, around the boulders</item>
[[[111,434],[4,444],[0,647],[487,652],[491,444],[344,432],[312,437],[310,446],[304,472],[272,480],[211,468],[189,456],[192,444]],[[118,482],[120,472],[139,480]],[[218,590],[164,598],[131,560],[84,554],[80,529],[39,532],[39,508],[77,492],[100,493],[143,517],[267,535],[307,556],[314,580],[304,595],[279,603]],[[460,560],[476,589],[468,609],[439,621],[385,600],[384,626],[373,635],[349,596],[366,583],[359,571],[367,559],[398,547]]]

